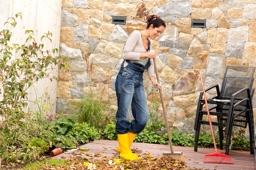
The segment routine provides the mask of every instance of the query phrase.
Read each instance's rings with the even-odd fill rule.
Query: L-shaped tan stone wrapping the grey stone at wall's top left
[[[76,14],[78,16],[78,23],[81,24],[90,24],[90,9],[85,8],[69,8],[68,12]]]

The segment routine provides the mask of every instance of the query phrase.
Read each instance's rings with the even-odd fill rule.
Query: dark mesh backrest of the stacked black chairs
[[[227,65],[220,92],[220,99],[230,100],[231,95],[245,87],[252,88],[253,86],[253,74],[254,66],[233,66]],[[237,96],[238,98],[244,98],[247,93]]]

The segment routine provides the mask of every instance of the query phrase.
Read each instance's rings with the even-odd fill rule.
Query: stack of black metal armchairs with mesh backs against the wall
[[[223,127],[225,127],[226,155],[229,153],[233,126],[246,128],[247,124],[249,126],[250,134],[250,153],[253,154],[253,144],[255,140],[252,107],[254,70],[255,67],[253,66],[228,65],[224,73],[221,91],[219,90],[218,85],[205,90],[206,92],[209,92],[210,89],[216,89],[217,95],[207,99],[207,102],[212,106],[209,108],[210,115],[217,117],[217,121],[212,119],[212,126],[218,126],[220,149],[223,149]],[[207,115],[207,111],[203,110],[205,104],[203,96],[204,94],[201,92],[195,117],[195,152],[197,152],[198,149],[201,124],[209,125],[209,120],[202,120],[203,115]]]

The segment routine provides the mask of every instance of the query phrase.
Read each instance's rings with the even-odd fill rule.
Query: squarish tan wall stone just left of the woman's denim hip
[[[92,82],[108,84],[110,81],[110,71],[111,69],[109,68],[93,65],[92,70],[88,71],[88,74]]]

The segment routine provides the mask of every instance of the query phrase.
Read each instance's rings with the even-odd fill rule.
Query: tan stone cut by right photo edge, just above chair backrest
[[[245,42],[243,60],[256,63],[256,43]],[[255,66],[255,65],[254,65]]]

